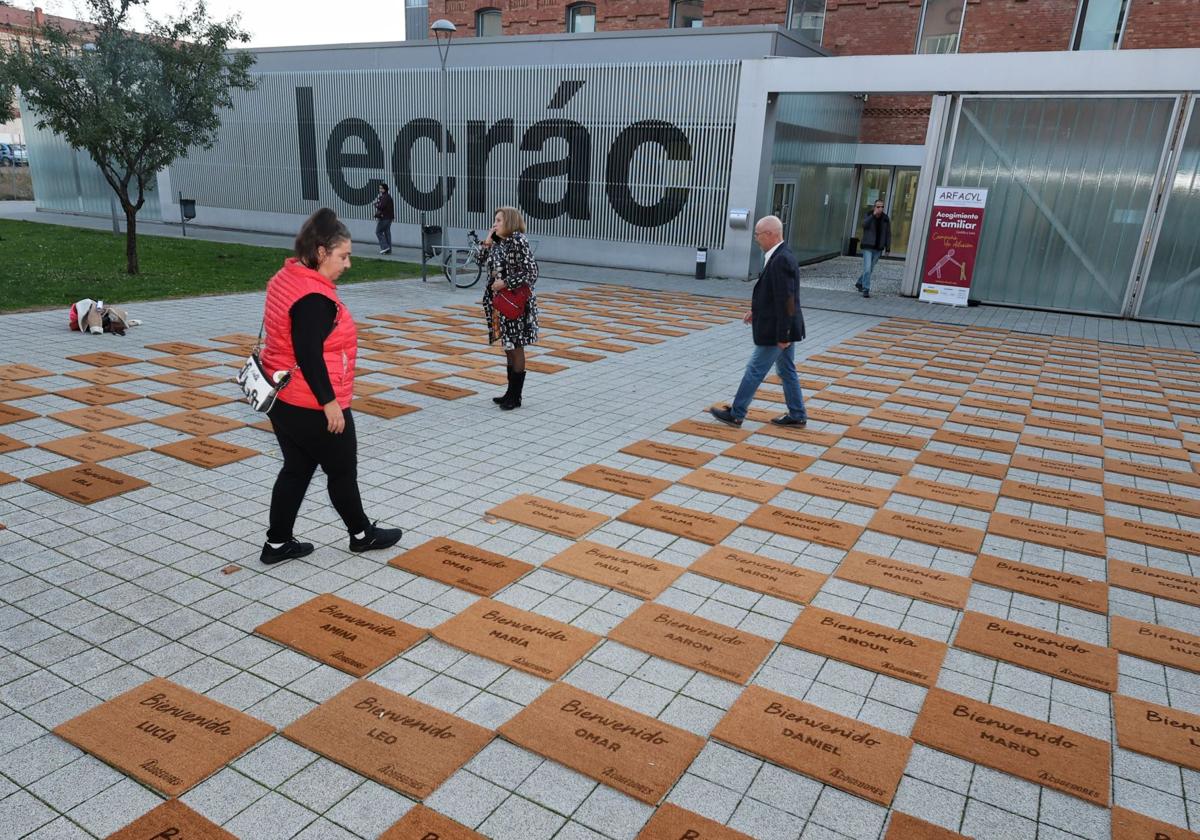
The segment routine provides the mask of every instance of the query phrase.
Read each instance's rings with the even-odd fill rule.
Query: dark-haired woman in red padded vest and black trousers
[[[278,563],[311,554],[311,542],[292,534],[300,503],[319,466],[329,499],[350,534],[350,551],[389,548],[400,528],[380,528],[362,511],[358,439],[354,436],[354,319],[334,284],[350,268],[350,232],[322,208],[296,234],[295,257],[266,284],[263,366],[269,376],[292,371],[271,408],[283,468],[271,492],[270,528],[259,559]]]

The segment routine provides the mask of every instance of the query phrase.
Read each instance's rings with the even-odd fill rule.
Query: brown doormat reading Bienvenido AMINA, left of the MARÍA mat
[[[354,677],[365,677],[425,631],[337,595],[317,595],[254,628],[259,636]]]

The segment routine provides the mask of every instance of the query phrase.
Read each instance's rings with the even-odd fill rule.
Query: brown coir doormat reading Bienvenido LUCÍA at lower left
[[[272,732],[256,718],[160,678],[54,728],[168,797],[204,781]]]

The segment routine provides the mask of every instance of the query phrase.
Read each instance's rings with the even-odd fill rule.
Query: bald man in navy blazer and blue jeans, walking
[[[787,414],[773,418],[776,426],[808,425],[804,394],[796,373],[796,342],[804,340],[804,313],[800,311],[800,271],[796,257],[784,242],[784,223],[778,216],[763,216],[754,227],[754,238],[766,254],[762,274],[754,287],[750,311],[742,319],[754,330],[754,353],[742,376],[732,406],[710,408],[724,424],[740,426],[750,409],[758,385],[772,365],[784,383]]]

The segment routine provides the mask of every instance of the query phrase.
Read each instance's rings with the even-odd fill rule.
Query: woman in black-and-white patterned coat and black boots
[[[538,299],[533,287],[538,282],[538,262],[524,235],[524,218],[516,208],[497,208],[494,224],[481,245],[479,260],[487,266],[488,284],[484,289],[484,317],[487,319],[487,341],[497,341],[508,358],[509,390],[503,396],[492,397],[502,410],[521,407],[524,389],[524,348],[538,341]],[[523,289],[522,287],[526,287]],[[496,306],[497,293],[529,295],[523,312],[516,318],[505,318]]]

